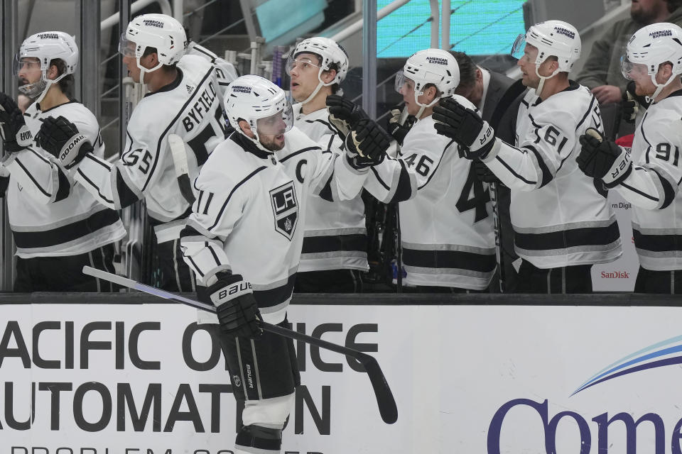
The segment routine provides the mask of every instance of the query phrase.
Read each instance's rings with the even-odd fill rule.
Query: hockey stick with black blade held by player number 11
[[[170,299],[172,301],[187,304],[188,306],[193,306],[196,309],[202,309],[203,311],[212,312],[215,314],[215,306],[212,306],[211,304],[205,304],[201,301],[180,297],[180,295],[166,292],[165,290],[157,289],[156,287],[140,284],[133,279],[128,279],[126,277],[114,275],[110,272],[97,270],[97,268],[87,266],[83,267],[83,273],[92,277],[97,277],[98,279],[114,282],[114,284],[119,284],[123,287],[128,287],[129,289],[139,290],[140,292],[152,294],[163,299]],[[379,414],[381,414],[381,419],[383,419],[387,424],[392,424],[398,420],[398,407],[396,406],[396,400],[393,397],[389,383],[386,382],[384,372],[381,372],[381,367],[379,367],[377,358],[374,358],[372,355],[367,355],[367,353],[344,347],[343,345],[337,345],[335,343],[323,341],[322,339],[314,338],[313,336],[308,336],[303,333],[299,333],[298,331],[282,328],[281,326],[276,326],[264,321],[261,322],[261,328],[263,328],[264,331],[269,331],[270,333],[278,334],[279,336],[296,339],[296,341],[303,341],[305,343],[309,343],[310,345],[332,350],[332,352],[341,353],[342,355],[350,356],[351,358],[357,360],[364,366],[364,370],[367,372],[367,377],[369,377],[369,381],[372,382],[372,388],[374,389],[374,395],[377,397],[377,405],[379,406]]]

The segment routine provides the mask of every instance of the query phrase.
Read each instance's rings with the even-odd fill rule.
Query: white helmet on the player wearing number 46
[[[396,92],[401,92],[404,84],[411,80],[414,83],[414,101],[421,106],[417,118],[424,109],[433,106],[438,99],[447,98],[455,93],[460,84],[460,67],[455,57],[447,50],[425,49],[415,52],[407,59],[403,70],[396,74]],[[418,97],[424,94],[424,87],[435,85],[438,90],[435,98],[429,104],[421,104]]]

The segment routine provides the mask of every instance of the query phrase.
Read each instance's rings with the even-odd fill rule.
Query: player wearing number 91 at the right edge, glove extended
[[[623,75],[654,101],[634,133],[632,153],[590,130],[580,169],[632,203],[639,255],[635,292],[682,293],[682,28],[654,23],[627,43]]]

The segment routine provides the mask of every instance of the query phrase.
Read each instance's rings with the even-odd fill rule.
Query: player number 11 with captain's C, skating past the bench
[[[359,121],[347,137],[347,155],[321,153],[292,128],[282,89],[254,75],[232,82],[225,106],[235,131],[196,179],[199,196],[181,242],[203,286],[199,298],[217,306],[213,322],[223,332],[233,392],[246,402],[235,453],[279,453],[298,368],[293,342],[262,333],[259,320],[288,323],[310,192],[354,197],[389,138]]]

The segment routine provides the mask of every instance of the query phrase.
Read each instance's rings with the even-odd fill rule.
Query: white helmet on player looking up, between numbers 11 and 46
[[[320,57],[320,64],[316,65],[319,68],[319,83],[313,93],[303,101],[303,104],[305,104],[318,94],[320,88],[329,87],[333,84],[340,84],[343,79],[346,78],[346,74],[348,73],[348,54],[335,40],[324,38],[323,36],[308,38],[301,41],[301,43],[298,43],[296,48],[294,48],[292,52],[289,52],[289,57],[286,60],[287,74],[291,74],[291,70],[297,63],[296,57],[302,53],[311,53]],[[325,84],[322,80],[322,73],[331,70],[332,65],[335,65],[336,77],[334,77],[331,82]]]

